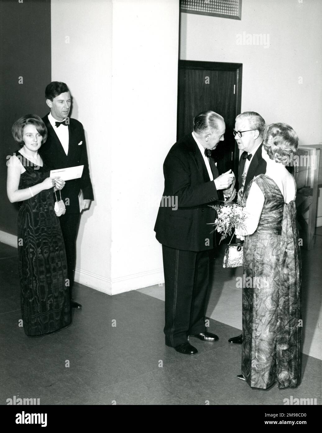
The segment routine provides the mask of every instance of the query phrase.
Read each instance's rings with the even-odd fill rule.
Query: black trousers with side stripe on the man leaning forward
[[[165,278],[164,333],[168,346],[186,343],[187,336],[205,332],[209,252],[162,246]]]

